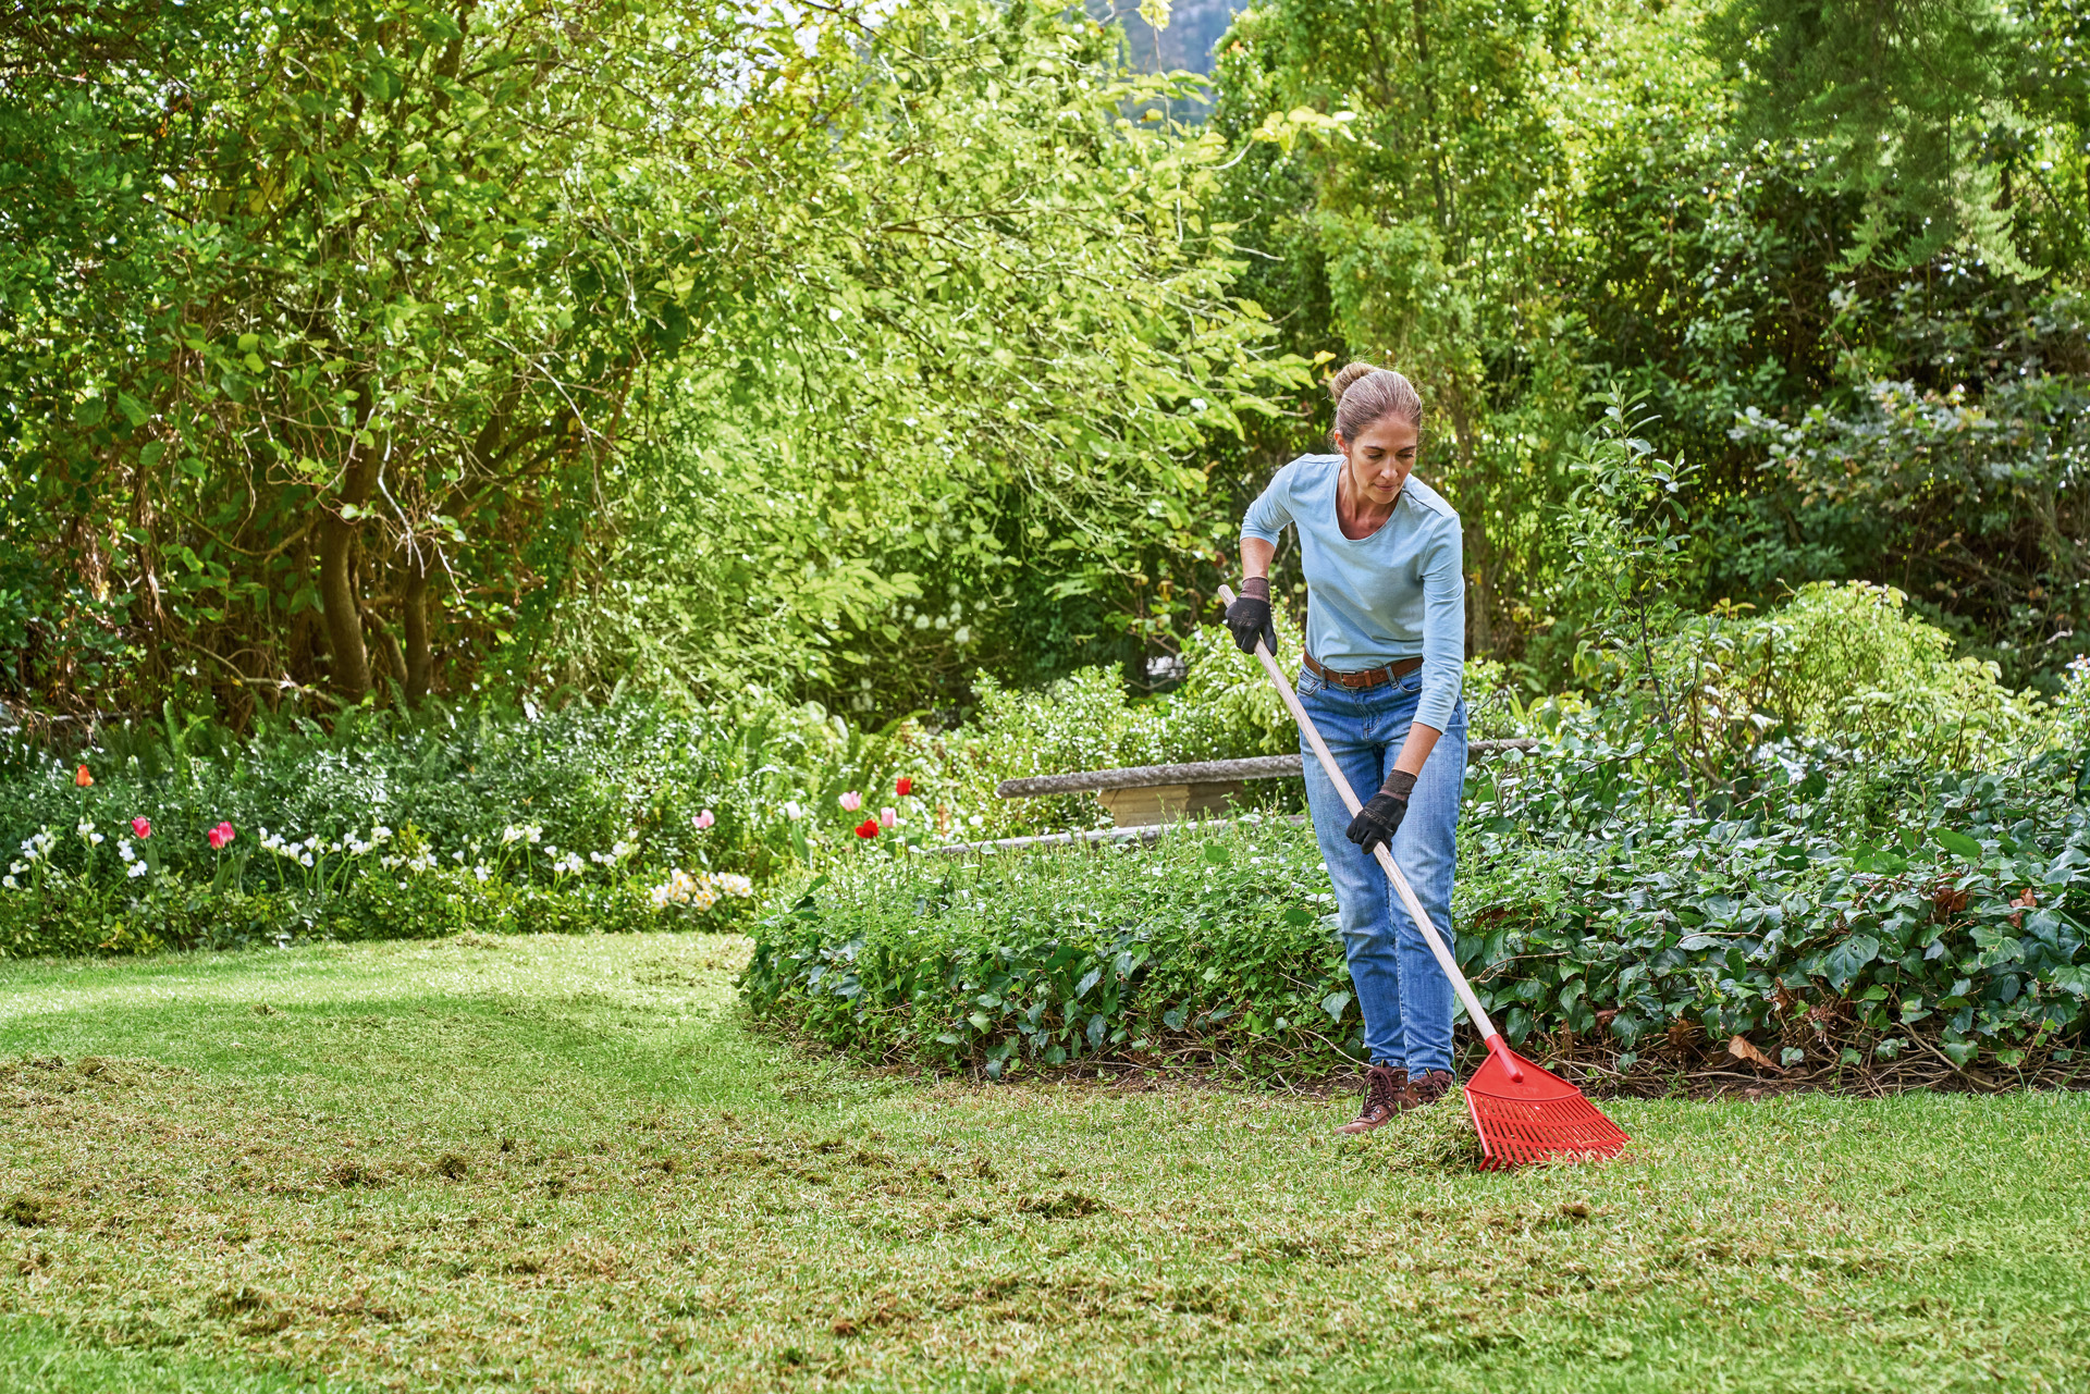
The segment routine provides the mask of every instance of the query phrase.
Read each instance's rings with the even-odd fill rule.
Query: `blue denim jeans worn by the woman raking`
[[[1313,717],[1336,765],[1361,800],[1369,800],[1392,773],[1400,746],[1421,700],[1421,671],[1377,688],[1350,690],[1300,671],[1300,706]],[[1344,832],[1350,811],[1300,738],[1306,757],[1306,807],[1313,813],[1321,859],[1336,882],[1342,945],[1350,959],[1350,982],[1365,1014],[1365,1049],[1371,1064],[1421,1070],[1450,1070],[1450,982],[1438,968],[1421,930],[1409,920],[1377,859]],[[1459,861],[1459,800],[1465,796],[1465,702],[1450,715],[1450,729],[1438,740],[1409,794],[1409,813],[1394,834],[1392,851],[1409,878],[1423,913],[1436,924],[1444,945],[1450,932],[1450,880]]]

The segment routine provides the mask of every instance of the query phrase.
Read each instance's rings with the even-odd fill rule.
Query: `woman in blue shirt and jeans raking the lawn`
[[[1459,514],[1411,479],[1423,403],[1398,372],[1350,364],[1329,382],[1333,456],[1277,470],[1241,520],[1241,598],[1227,629],[1244,652],[1271,625],[1271,558],[1290,522],[1306,573],[1300,704],[1352,790],[1356,817],[1306,748],[1306,807],[1336,882],[1344,951],[1365,1014],[1365,1106],[1342,1133],[1442,1099],[1450,1074],[1450,982],[1371,849],[1390,842],[1444,943],[1459,798],[1465,794],[1465,577]]]

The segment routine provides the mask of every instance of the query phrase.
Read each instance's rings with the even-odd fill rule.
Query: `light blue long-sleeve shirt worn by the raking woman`
[[[1277,545],[1287,522],[1298,527],[1306,652],[1344,673],[1419,654],[1415,719],[1442,731],[1465,677],[1459,514],[1411,474],[1377,533],[1344,537],[1336,518],[1340,474],[1342,456],[1300,456],[1277,470],[1241,518],[1241,537]]]

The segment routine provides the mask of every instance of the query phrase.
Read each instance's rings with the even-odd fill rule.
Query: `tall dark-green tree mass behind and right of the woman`
[[[2054,644],[2090,625],[2063,483],[2086,362],[2077,8],[1237,17],[1214,125],[1252,142],[1223,196],[1264,253],[1241,284],[1287,347],[1423,387],[1473,652],[1536,692],[1570,681],[1601,614],[1553,518],[1584,393],[1618,382],[1659,418],[1628,435],[1691,477],[1680,610],[1896,583],[2008,681],[2057,681]],[[1929,405],[1875,410],[1889,382]],[[1785,433],[1818,451],[1797,489]]]

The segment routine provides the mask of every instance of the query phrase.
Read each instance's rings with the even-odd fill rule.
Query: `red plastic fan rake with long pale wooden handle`
[[[1225,585],[1218,587],[1218,598],[1233,604],[1233,591]],[[1342,803],[1350,813],[1356,813],[1363,807],[1356,800],[1356,792],[1342,777],[1336,757],[1329,754],[1321,731],[1315,729],[1306,708],[1300,706],[1298,694],[1292,692],[1283,669],[1277,667],[1277,658],[1264,644],[1256,644],[1256,658],[1262,660],[1262,669],[1277,683],[1277,694],[1292,708],[1292,719],[1300,723],[1300,734],[1321,759],[1321,769],[1327,771],[1336,792],[1342,794]],[[1459,972],[1459,963],[1450,957],[1442,936],[1438,936],[1436,924],[1423,913],[1415,890],[1409,888],[1409,878],[1394,863],[1394,853],[1384,842],[1371,851],[1379,859],[1386,880],[1394,884],[1394,892],[1409,911],[1409,920],[1423,932],[1430,953],[1436,955],[1444,976],[1450,978],[1453,989],[1459,993],[1467,1020],[1473,1022],[1482,1041],[1488,1043],[1488,1060],[1465,1083],[1465,1108],[1473,1116],[1473,1131],[1480,1133],[1480,1164],[1509,1168],[1526,1162],[1545,1162],[1547,1158],[1580,1162],[1618,1156],[1626,1147],[1626,1135],[1618,1124],[1605,1118],[1595,1103],[1582,1097],[1580,1089],[1559,1074],[1542,1070],[1509,1049],[1501,1032],[1494,1030],[1494,1022],[1488,1020],[1488,1012],[1480,1005],[1480,999],[1473,997],[1473,984]]]

